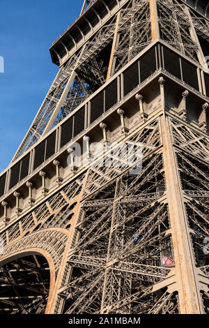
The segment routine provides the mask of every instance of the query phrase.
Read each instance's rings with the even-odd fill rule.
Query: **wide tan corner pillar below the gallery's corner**
[[[176,282],[180,304],[180,313],[203,313],[201,296],[196,281],[194,255],[189,239],[189,227],[180,188],[178,164],[169,131],[169,121],[162,117],[162,137],[164,142],[164,170],[167,184],[167,199],[171,221],[173,239],[173,253],[175,258]]]

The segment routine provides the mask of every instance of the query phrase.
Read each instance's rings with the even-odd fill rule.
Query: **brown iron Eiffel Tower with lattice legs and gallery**
[[[209,313],[208,1],[84,1],[50,53],[0,175],[0,313]]]

